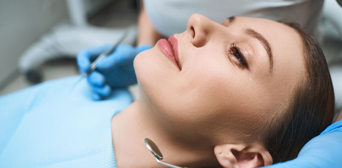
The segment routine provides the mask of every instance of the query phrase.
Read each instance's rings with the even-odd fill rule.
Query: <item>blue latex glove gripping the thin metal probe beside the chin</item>
[[[90,64],[99,56],[110,49],[113,44],[83,49],[77,55],[77,65],[80,72],[89,70]],[[97,68],[87,77],[91,86],[94,100],[101,100],[109,96],[112,88],[127,87],[136,83],[136,76],[133,68],[134,57],[153,46],[143,44],[133,47],[127,44],[119,44],[118,47],[107,57],[102,59]]]

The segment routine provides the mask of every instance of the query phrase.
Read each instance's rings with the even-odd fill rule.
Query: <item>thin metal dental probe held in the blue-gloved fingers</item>
[[[115,45],[110,48],[109,50],[107,50],[106,52],[100,54],[91,64],[90,64],[90,68],[87,72],[83,73],[81,75],[81,78],[78,79],[76,81],[76,83],[74,83],[74,85],[70,88],[70,93],[74,90],[74,88],[77,86],[77,84],[82,81],[84,78],[86,78],[89,74],[91,74],[97,67],[98,62],[100,62],[102,59],[104,59],[106,56],[108,56],[110,53],[112,53],[116,47],[118,47],[118,45],[127,37],[128,35],[128,31],[125,31],[125,33],[123,34],[123,36],[120,38],[120,40],[115,43]]]

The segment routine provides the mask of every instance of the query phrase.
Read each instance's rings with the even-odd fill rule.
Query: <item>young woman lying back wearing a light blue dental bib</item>
[[[195,14],[185,32],[138,54],[134,68],[140,98],[114,117],[127,104],[119,100],[129,99],[118,96],[123,91],[108,111],[108,101],[84,98],[84,82],[71,95],[63,90],[74,80],[36,87],[24,117],[2,117],[17,122],[1,139],[0,165],[163,167],[145,147],[150,138],[177,166],[260,167],[295,158],[332,120],[324,55],[291,24],[250,17],[218,24]],[[22,102],[24,92],[1,99],[8,113],[16,104],[5,103]]]

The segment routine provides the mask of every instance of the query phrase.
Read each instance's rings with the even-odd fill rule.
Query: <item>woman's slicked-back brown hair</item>
[[[273,164],[297,157],[305,143],[331,124],[334,111],[332,82],[318,42],[297,24],[284,24],[302,39],[306,75],[294,90],[285,116],[273,120],[276,127],[266,133],[265,147]]]

